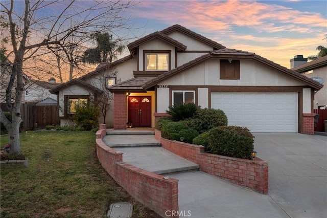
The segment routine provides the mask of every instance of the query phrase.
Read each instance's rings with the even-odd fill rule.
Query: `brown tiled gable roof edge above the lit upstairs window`
[[[170,43],[171,45],[175,46],[179,51],[184,51],[186,49],[186,46],[183,45],[183,43],[181,43],[181,42],[179,42],[179,41],[177,41],[177,40],[175,40],[175,39],[173,39],[173,38],[171,38],[171,37],[169,37],[169,36],[167,36],[167,35],[165,35],[165,34],[163,34],[161,32],[154,32],[154,33],[151,33],[151,34],[149,34],[147,36],[144,36],[144,37],[142,37],[140,39],[137,39],[137,40],[129,43],[127,45],[127,47],[128,47],[128,49],[130,51],[133,51],[136,47],[138,47],[142,43],[150,41],[150,40],[152,40],[154,38],[159,38],[161,40],[164,40],[164,41]]]

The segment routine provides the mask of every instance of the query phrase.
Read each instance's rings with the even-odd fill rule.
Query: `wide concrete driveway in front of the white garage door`
[[[269,165],[268,195],[290,217],[327,217],[327,137],[253,134]]]

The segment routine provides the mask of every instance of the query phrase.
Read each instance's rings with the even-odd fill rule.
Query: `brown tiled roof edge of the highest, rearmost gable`
[[[196,32],[193,32],[192,30],[189,30],[189,29],[187,29],[187,28],[185,28],[183,26],[180,26],[179,24],[175,24],[175,25],[173,25],[171,27],[168,27],[168,28],[166,28],[164,30],[161,30],[160,32],[167,35],[167,34],[172,33],[174,31],[180,31],[180,32],[182,32],[182,33],[184,33],[186,35],[191,36],[192,38],[198,39],[198,40],[206,43],[207,45],[212,46],[215,50],[216,49],[226,48],[225,46],[221,45],[220,43],[218,43],[216,41],[213,41],[213,40],[211,40],[209,38],[206,38],[206,37],[204,37],[204,36],[202,36],[202,35],[200,35],[200,34],[198,34]]]

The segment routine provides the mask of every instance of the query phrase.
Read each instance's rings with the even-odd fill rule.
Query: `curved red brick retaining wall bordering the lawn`
[[[97,155],[102,167],[133,198],[163,217],[167,210],[178,211],[178,180],[149,172],[124,163],[123,153],[105,145],[101,137],[106,129],[97,132]],[[174,217],[174,216],[170,216]]]

